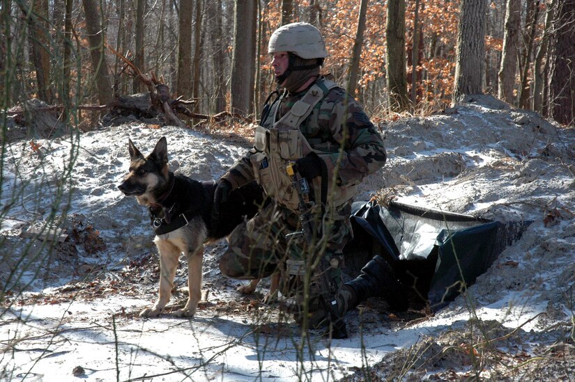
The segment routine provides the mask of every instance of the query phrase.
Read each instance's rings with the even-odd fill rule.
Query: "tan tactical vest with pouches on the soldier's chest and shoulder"
[[[335,88],[337,84],[328,79],[320,78],[307,90],[307,93],[298,100],[291,109],[279,120],[273,116],[273,126],[270,128],[259,125],[256,127],[255,148],[257,152],[252,154],[250,161],[254,170],[256,180],[267,195],[275,198],[279,203],[297,211],[298,193],[291,184],[291,177],[286,172],[289,163],[305,157],[310,152],[315,152],[321,159],[322,154],[333,154],[333,152],[323,152],[314,150],[309,145],[307,139],[300,132],[300,125],[312,113],[314,106],[321,102],[329,90]],[[279,104],[280,100],[277,100]],[[277,113],[277,107],[270,110]],[[325,159],[324,159],[325,160]],[[331,165],[331,166],[330,166]],[[328,164],[328,168],[334,168],[334,164]],[[327,200],[332,206],[339,207],[353,198],[357,186],[355,184],[347,186],[332,187],[333,171],[328,171],[328,192],[335,190],[333,195],[328,195]],[[321,177],[316,177],[310,182],[314,190],[315,200],[319,202],[321,198]]]

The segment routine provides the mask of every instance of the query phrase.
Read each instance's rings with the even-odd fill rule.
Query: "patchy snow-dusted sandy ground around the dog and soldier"
[[[424,207],[535,223],[468,294],[434,317],[409,321],[367,304],[346,315],[350,337],[331,342],[316,333],[302,336],[275,308],[258,303],[261,294],[240,296],[240,282],[217,270],[225,243],[206,248],[208,302],[197,317],[137,317],[155,299],[158,260],[146,210],[116,188],[128,169],[128,138],[148,153],[167,136],[171,169],[197,180],[222,175],[248,141],[121,125],[37,140],[35,149],[29,141],[10,143],[0,200],[0,282],[9,291],[1,313],[0,379],[328,381],[407,351],[424,337],[463,328],[470,318],[519,328],[523,336],[544,333],[539,345],[569,343],[575,131],[491,97],[382,128],[388,164],[365,181],[358,200],[385,188]],[[76,157],[73,167],[70,157]],[[68,206],[68,214],[52,205]],[[49,256],[42,241],[17,236],[24,224],[51,218],[63,220],[72,240]],[[176,282],[185,286],[183,264]],[[178,292],[174,300],[183,298]],[[505,351],[535,354],[528,341]],[[457,369],[458,362],[436,367]]]

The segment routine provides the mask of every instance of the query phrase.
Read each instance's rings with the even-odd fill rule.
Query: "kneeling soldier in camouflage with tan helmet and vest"
[[[229,191],[252,180],[273,202],[231,233],[220,269],[226,276],[253,280],[270,276],[285,264],[287,276],[282,280],[300,280],[296,303],[307,304],[309,327],[316,327],[325,324],[317,303],[321,294],[316,282],[318,257],[328,260],[330,267],[323,271],[337,293],[342,286],[342,249],[353,237],[351,202],[358,184],[385,164],[385,148],[362,106],[320,74],[328,51],[318,29],[303,22],[284,25],[271,36],[268,53],[273,55],[278,90],[284,90],[268,97],[254,148],[222,176],[215,191],[214,221]],[[313,244],[292,234],[301,229],[302,211],[286,173],[290,163],[295,163],[311,189]],[[307,283],[302,281],[305,274],[311,275]],[[301,285],[309,287],[309,294]],[[291,284],[289,289],[293,288]]]

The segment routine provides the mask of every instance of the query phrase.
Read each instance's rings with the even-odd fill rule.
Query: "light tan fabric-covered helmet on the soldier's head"
[[[270,37],[268,53],[291,51],[301,58],[325,58],[328,51],[319,30],[307,22],[280,26]]]

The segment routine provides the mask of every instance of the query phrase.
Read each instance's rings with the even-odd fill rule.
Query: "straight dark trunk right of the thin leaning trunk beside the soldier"
[[[404,111],[409,107],[407,96],[407,73],[405,51],[405,0],[388,0],[385,38],[387,52],[385,65],[388,83],[388,102],[393,111]]]

